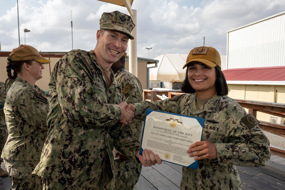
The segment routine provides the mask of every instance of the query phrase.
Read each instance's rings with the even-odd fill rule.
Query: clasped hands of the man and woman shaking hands
[[[122,102],[119,104],[121,107],[121,117],[120,117],[120,123],[124,126],[132,121],[132,119],[135,117],[135,111],[136,107],[135,105],[127,102]]]

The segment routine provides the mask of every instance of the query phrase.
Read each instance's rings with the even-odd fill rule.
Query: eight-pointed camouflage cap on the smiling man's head
[[[119,11],[114,11],[111,13],[103,13],[100,19],[100,29],[118,30],[125,32],[129,35],[131,40],[134,36],[131,34],[132,30],[135,28],[132,18],[129,15],[121,13]]]

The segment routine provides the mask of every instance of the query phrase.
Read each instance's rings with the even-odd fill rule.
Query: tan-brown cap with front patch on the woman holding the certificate
[[[183,66],[183,69],[190,62],[194,61],[201,62],[209,67],[218,66],[219,68],[221,68],[221,56],[219,52],[212,47],[201,46],[191,50],[187,56],[186,64]]]

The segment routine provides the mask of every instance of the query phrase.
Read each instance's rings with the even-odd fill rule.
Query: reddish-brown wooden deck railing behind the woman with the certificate
[[[175,95],[184,94],[184,93],[182,93],[181,91],[144,90],[144,100],[156,101],[158,100],[156,98],[156,95],[161,95],[161,94],[168,94],[168,98],[172,98]],[[249,113],[252,113],[255,117],[257,116],[257,111],[259,111],[262,113],[267,113],[277,117],[285,118],[285,104],[249,101],[249,100],[240,100],[240,99],[235,99],[235,101],[237,101],[241,105],[241,107],[248,108]],[[260,121],[258,126],[266,132],[270,132],[272,134],[285,137],[285,125],[283,124]],[[285,149],[283,148],[270,145],[270,151],[271,154],[285,158]]]

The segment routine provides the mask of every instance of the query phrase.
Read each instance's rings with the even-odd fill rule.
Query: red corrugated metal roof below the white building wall
[[[223,70],[227,81],[285,81],[285,66]]]

